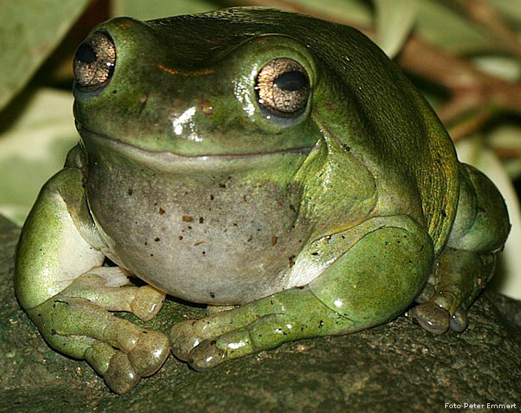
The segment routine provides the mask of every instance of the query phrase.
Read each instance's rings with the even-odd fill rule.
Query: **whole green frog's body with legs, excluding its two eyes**
[[[363,34],[256,8],[95,31],[114,41],[114,73],[74,86],[81,143],[17,250],[17,296],[52,347],[124,393],[170,348],[202,369],[370,328],[415,299],[427,330],[465,329],[507,209]],[[308,74],[297,116],[257,101],[257,73],[279,57]],[[228,307],[169,337],[109,313],[151,319],[165,293]]]

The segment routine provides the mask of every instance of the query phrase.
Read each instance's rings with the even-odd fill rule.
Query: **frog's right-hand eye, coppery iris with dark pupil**
[[[255,81],[259,105],[277,116],[298,116],[306,108],[310,83],[306,70],[293,59],[266,63]]]

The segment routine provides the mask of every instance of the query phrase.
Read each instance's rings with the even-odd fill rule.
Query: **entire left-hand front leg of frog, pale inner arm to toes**
[[[15,288],[52,347],[86,359],[117,393],[156,372],[169,354],[167,337],[115,317],[129,311],[151,319],[164,293],[124,286],[120,268],[100,267],[105,255],[86,208],[81,171],[65,168],[43,187],[17,248]]]

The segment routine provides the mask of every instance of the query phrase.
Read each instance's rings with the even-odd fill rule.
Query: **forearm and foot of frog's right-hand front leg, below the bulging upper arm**
[[[178,359],[202,370],[286,341],[354,331],[353,326],[305,287],[181,321],[171,329],[170,345]]]

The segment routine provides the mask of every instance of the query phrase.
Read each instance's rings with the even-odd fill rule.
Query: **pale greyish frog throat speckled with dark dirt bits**
[[[109,257],[182,299],[241,304],[277,293],[310,233],[295,182],[90,165],[87,198]]]

